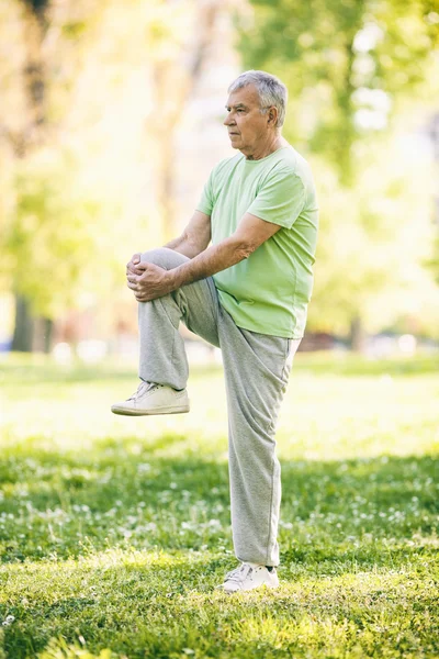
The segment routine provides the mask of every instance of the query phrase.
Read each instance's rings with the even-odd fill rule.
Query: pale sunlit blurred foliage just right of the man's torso
[[[347,335],[357,315],[369,332],[401,321],[403,332],[438,336],[439,290],[426,267],[437,234],[431,172],[414,169],[391,137],[358,148],[352,189],[313,160],[320,227],[309,328]]]

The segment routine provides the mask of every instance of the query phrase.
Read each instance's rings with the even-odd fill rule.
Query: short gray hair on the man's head
[[[232,82],[228,88],[228,93],[243,89],[248,85],[255,85],[259,94],[260,111],[262,114],[267,112],[269,108],[277,108],[278,110],[278,122],[277,129],[283,126],[285,121],[288,90],[279,78],[267,74],[266,71],[245,71]]]

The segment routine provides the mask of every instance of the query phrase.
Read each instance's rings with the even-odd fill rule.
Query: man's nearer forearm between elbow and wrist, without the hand
[[[247,258],[250,253],[247,245],[244,245],[234,236],[225,238],[217,245],[207,247],[190,261],[169,270],[168,277],[172,287],[171,290],[230,268]]]

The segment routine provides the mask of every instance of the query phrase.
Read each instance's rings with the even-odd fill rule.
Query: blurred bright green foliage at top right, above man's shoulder
[[[241,25],[245,66],[280,75],[291,92],[291,114],[299,102],[311,112],[309,134],[304,136],[291,121],[286,136],[295,143],[305,139],[345,182],[351,182],[356,174],[351,147],[371,131],[356,123],[359,110],[373,120],[382,109],[385,121],[393,97],[409,93],[425,80],[439,43],[434,3],[252,0],[251,4],[252,21]],[[384,108],[375,110],[376,103]]]

